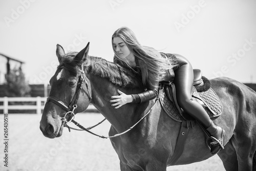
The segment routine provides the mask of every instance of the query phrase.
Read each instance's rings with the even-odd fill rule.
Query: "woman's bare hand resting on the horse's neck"
[[[126,95],[120,90],[117,89],[117,92],[120,94],[119,96],[112,96],[112,100],[110,102],[116,102],[111,104],[112,106],[116,106],[115,109],[120,108],[122,105],[126,103],[131,103],[133,101],[132,95]]]

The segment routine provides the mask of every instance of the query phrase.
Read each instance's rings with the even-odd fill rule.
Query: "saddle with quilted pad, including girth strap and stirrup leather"
[[[210,86],[210,81],[202,76],[201,70],[194,69],[194,83],[191,91],[192,98],[198,101],[203,106],[210,119],[214,120],[222,114],[222,104],[219,97]],[[159,101],[163,111],[165,111],[170,118],[181,122],[175,151],[170,158],[170,165],[174,165],[183,153],[189,127],[194,127],[197,122],[193,117],[186,114],[182,108],[180,108],[176,98],[175,84],[173,82],[160,82]],[[200,123],[199,125],[206,136],[207,142],[207,140],[210,139],[210,135]]]

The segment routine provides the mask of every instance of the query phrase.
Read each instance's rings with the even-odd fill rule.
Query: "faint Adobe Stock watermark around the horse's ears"
[[[81,33],[75,34],[75,38],[73,39],[72,43],[67,46],[67,48],[63,48],[65,53],[69,51],[74,51],[76,47],[80,46],[87,37],[84,37]],[[37,83],[44,83],[47,81],[48,77],[53,75],[56,71],[56,67],[59,65],[57,57],[55,60],[52,60],[49,66],[42,66],[41,69],[43,70],[38,75],[34,74],[32,78],[30,78],[30,82],[35,84]]]

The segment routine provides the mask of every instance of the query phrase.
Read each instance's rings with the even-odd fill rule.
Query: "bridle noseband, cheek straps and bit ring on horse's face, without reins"
[[[82,89],[82,83],[85,82],[86,83],[86,88],[87,88],[87,92],[88,92],[88,97],[90,100],[90,103],[92,101],[92,96],[90,94],[89,91],[89,85],[88,82],[86,81],[86,79],[84,78],[84,71],[83,71],[83,67],[81,67],[81,76],[79,77],[79,81],[77,83],[77,87],[76,87],[76,92],[71,100],[71,102],[69,103],[69,105],[66,105],[64,102],[62,102],[61,100],[53,97],[53,96],[48,96],[47,97],[47,102],[53,102],[54,104],[58,105],[60,108],[62,108],[63,110],[65,110],[67,113],[65,114],[65,116],[61,119],[63,122],[66,123],[70,123],[74,118],[75,118],[75,114],[74,111],[77,108],[77,101]],[[69,118],[67,118],[67,115],[69,116]]]

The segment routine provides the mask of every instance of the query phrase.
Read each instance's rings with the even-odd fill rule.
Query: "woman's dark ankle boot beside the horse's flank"
[[[223,130],[220,126],[215,125],[212,121],[206,130],[212,137],[214,137],[214,139],[209,144],[210,153],[215,155],[221,150],[221,148],[224,149],[223,136],[225,135],[225,130]]]

